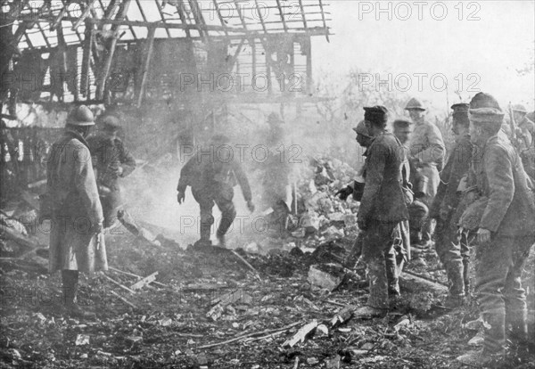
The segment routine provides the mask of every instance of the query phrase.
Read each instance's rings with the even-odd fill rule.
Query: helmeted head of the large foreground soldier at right
[[[504,121],[504,112],[491,94],[473,96],[468,110],[470,136],[473,143],[484,144],[491,135],[496,135]]]

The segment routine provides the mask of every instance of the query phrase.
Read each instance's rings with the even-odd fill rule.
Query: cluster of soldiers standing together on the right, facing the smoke
[[[518,352],[528,343],[521,273],[535,243],[533,123],[522,106],[514,106],[510,119],[518,125],[507,129],[505,112],[490,94],[457,103],[451,107],[455,145],[442,168],[440,130],[425,121],[421,102],[411,99],[405,109],[411,121],[395,120],[393,133],[386,129],[389,112],[379,105],[364,108],[364,120],[353,128],[366,147],[364,180],[339,194],[360,201],[360,233],[346,263],[354,266],[356,256],[366,263],[369,297],[356,315],[386,313],[399,295],[407,243],[429,247],[433,233],[449,279],[445,305],[461,306],[469,293],[470,246],[477,245],[475,290],[490,328],[482,350],[458,360],[503,360],[506,350]],[[399,241],[406,247],[397,248]]]

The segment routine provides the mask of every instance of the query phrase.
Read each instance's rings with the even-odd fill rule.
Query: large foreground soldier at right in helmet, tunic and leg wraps
[[[506,353],[506,337],[517,348],[528,340],[526,295],[521,274],[535,242],[535,199],[522,160],[500,131],[504,119],[498,102],[476,94],[470,102],[470,137],[481,151],[476,183],[486,198],[479,212],[476,291],[487,325],[483,348],[457,360],[490,365]],[[511,326],[511,331],[506,328]]]

